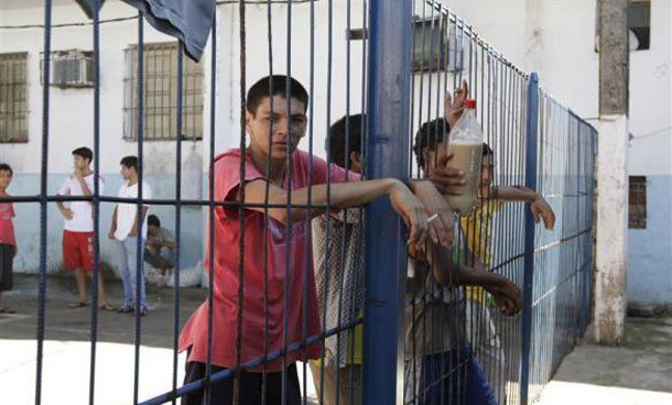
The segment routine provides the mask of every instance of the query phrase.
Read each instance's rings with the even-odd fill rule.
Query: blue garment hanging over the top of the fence
[[[215,0],[121,0],[142,11],[147,21],[184,43],[186,54],[198,62],[213,28]]]

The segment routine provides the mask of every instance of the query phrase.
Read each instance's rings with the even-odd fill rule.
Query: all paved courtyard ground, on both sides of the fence
[[[75,297],[71,277],[48,277],[42,375],[42,404],[88,404],[90,376],[90,307],[71,309]],[[108,284],[113,304],[121,285]],[[205,298],[200,288],[181,291],[181,325]],[[142,318],[139,397],[167,392],[173,381],[173,289],[148,287],[150,313]],[[34,404],[37,277],[18,275],[3,304],[18,309],[0,315],[0,404]],[[543,390],[540,405],[666,405],[672,404],[672,313],[629,318],[625,342],[605,348],[592,332],[564,360]],[[96,346],[96,404],[127,405],[133,401],[134,318],[100,311]],[[302,364],[301,364],[302,365]],[[184,377],[180,355],[177,382]],[[302,369],[300,368],[300,375]],[[308,404],[316,404],[310,370]]]

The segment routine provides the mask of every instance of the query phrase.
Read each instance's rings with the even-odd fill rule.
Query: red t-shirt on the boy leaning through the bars
[[[234,201],[237,198],[240,180],[240,150],[229,150],[215,160],[215,200]],[[296,151],[291,156],[292,173],[288,184],[282,187],[299,189],[310,186],[308,168],[311,156]],[[312,184],[327,182],[327,164],[319,157],[312,157]],[[330,179],[344,182],[346,172],[335,164],[330,165]],[[254,166],[252,158],[246,154],[245,182],[261,179],[264,176]],[[349,180],[359,176],[348,172]],[[245,287],[242,303],[242,344],[241,361],[263,355],[264,324],[268,321],[268,347],[272,352],[284,348],[284,316],[288,321],[288,346],[297,343],[303,337],[321,332],[319,313],[315,293],[313,273],[313,253],[310,228],[305,221],[290,226],[290,236],[285,237],[285,227],[269,219],[268,241],[268,319],[264,319],[264,217],[262,212],[246,210],[243,214],[245,243]],[[209,221],[209,219],[208,219]],[[239,273],[239,215],[238,208],[216,207],[214,227],[214,289],[213,289],[213,357],[212,363],[223,368],[236,366],[236,337],[238,317],[238,273]],[[209,234],[206,236],[205,271],[208,272]],[[289,270],[285,260],[289,255]],[[305,258],[308,258],[307,263]],[[307,266],[306,266],[307,264]],[[286,270],[286,272],[285,272]],[[285,281],[289,289],[285,310]],[[305,283],[305,284],[304,284]],[[304,287],[307,305],[304,314]],[[191,348],[187,361],[206,362],[207,358],[207,300],[203,303],[186,322],[180,336],[180,350]],[[304,335],[305,320],[305,335]],[[307,358],[319,355],[319,344],[307,347]],[[288,354],[286,365],[303,359],[302,350]],[[265,363],[267,371],[282,370],[281,358]],[[251,370],[260,371],[261,366]]]

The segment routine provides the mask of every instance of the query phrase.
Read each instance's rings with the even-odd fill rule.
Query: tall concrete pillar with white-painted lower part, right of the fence
[[[628,0],[599,0],[599,135],[595,340],[618,344],[628,242]]]

